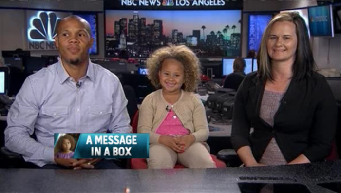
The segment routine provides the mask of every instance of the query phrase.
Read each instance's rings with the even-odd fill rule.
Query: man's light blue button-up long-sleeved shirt
[[[128,101],[113,73],[90,62],[78,87],[60,60],[27,77],[8,113],[5,146],[42,167],[55,164],[54,133],[131,132]]]

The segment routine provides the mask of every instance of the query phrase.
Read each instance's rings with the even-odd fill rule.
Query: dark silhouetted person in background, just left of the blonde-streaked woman
[[[243,58],[237,57],[233,62],[233,73],[224,79],[224,88],[238,90],[239,85],[245,77],[246,62]]]

